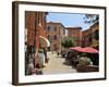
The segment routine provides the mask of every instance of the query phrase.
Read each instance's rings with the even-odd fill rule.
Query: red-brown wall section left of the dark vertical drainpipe
[[[35,12],[25,12],[25,27],[27,30],[27,46],[34,46],[35,40]]]

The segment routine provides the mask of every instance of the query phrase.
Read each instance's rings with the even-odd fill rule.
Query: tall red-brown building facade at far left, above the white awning
[[[40,47],[39,36],[46,37],[46,15],[47,13],[45,12],[25,12],[25,44],[27,47],[32,46],[36,50],[35,65],[37,64],[37,53]]]

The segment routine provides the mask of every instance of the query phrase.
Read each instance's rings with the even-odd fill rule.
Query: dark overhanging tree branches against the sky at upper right
[[[97,14],[85,14],[84,23],[94,24],[99,21],[99,15]]]

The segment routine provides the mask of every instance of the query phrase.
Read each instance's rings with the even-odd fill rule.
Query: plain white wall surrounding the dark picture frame
[[[109,17],[108,17],[109,0],[33,0],[33,1],[107,7],[107,24],[109,24]],[[107,26],[107,28],[109,28],[109,26]],[[108,33],[109,29],[107,29],[107,38],[109,38]],[[107,51],[109,51],[109,39],[107,39]],[[109,87],[108,58],[109,53],[107,53],[107,80],[48,84],[48,85],[37,85],[37,86],[29,85],[21,87]],[[12,0],[0,0],[0,87],[15,87],[11,85],[11,79],[12,79]]]

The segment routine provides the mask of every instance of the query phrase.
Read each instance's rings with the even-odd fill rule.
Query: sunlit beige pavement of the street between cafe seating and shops
[[[58,57],[57,53],[48,52],[49,62],[46,67],[43,69],[44,74],[63,74],[75,73],[76,70],[71,65],[65,64],[65,59]]]

